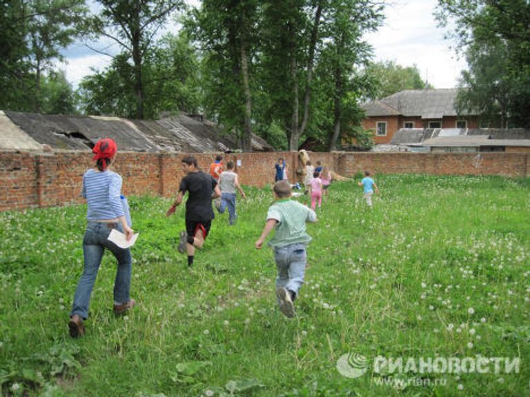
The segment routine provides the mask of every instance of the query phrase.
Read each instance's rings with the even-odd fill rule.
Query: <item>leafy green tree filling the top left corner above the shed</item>
[[[48,96],[42,81],[54,72],[61,48],[82,32],[84,0],[12,0],[0,3],[0,107],[40,112]],[[53,78],[53,77],[52,77]]]

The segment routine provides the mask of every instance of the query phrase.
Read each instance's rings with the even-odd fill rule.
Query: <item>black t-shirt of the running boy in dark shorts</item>
[[[188,221],[210,221],[215,217],[212,210],[212,190],[217,181],[206,172],[190,172],[180,182],[179,192],[188,192],[186,219]]]

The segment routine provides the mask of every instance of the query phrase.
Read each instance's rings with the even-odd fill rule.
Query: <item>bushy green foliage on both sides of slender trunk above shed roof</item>
[[[141,76],[144,116],[156,119],[161,112],[197,112],[200,103],[199,61],[185,34],[168,34],[144,54]],[[135,66],[129,54],[116,56],[103,71],[85,77],[79,85],[85,114],[135,118]]]

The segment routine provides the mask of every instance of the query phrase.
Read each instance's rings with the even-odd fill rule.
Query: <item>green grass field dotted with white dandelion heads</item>
[[[306,283],[291,320],[275,306],[271,250],[254,248],[270,190],[246,188],[233,227],[217,215],[193,268],[176,250],[184,208],[166,218],[169,199],[129,198],[139,305],[112,314],[115,261],[106,254],[79,340],[67,323],[86,206],[0,213],[2,394],[530,395],[530,180],[376,182],[373,210],[356,184],[331,186],[308,225]],[[341,357],[346,369],[362,367],[361,356],[362,376],[337,370]],[[375,371],[378,356],[508,358],[511,367]]]

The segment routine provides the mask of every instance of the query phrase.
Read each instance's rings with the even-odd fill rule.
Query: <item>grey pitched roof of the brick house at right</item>
[[[422,119],[442,119],[456,116],[455,99],[458,89],[404,90],[378,101],[366,103],[362,108],[367,116],[421,116]],[[387,108],[384,107],[387,106]],[[397,113],[396,113],[397,112]],[[476,114],[467,112],[467,115]]]

